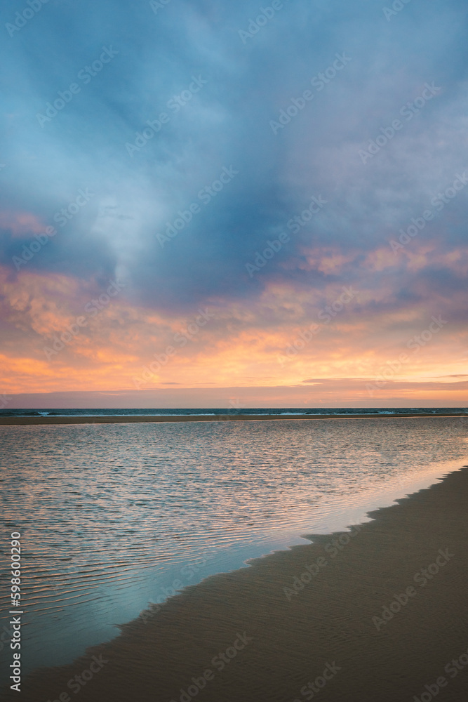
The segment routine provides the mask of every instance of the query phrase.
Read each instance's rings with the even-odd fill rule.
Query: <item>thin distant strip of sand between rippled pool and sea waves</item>
[[[291,419],[401,419],[416,417],[468,417],[467,413],[446,412],[441,414],[419,412],[413,414],[218,414],[218,415],[128,415],[128,416],[56,416],[56,417],[8,417],[0,416],[0,426],[48,425],[48,424],[129,424],[153,422],[243,422]]]

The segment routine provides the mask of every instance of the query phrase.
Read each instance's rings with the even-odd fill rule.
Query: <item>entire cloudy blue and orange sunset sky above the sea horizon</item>
[[[0,25],[2,406],[468,404],[463,0]]]

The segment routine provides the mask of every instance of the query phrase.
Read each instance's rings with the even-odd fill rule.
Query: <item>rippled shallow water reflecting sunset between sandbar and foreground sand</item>
[[[112,639],[149,602],[364,522],[467,463],[462,417],[2,427],[0,647],[12,531],[27,672]]]

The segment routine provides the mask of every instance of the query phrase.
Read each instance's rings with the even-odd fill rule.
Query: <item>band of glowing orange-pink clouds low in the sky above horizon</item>
[[[385,300],[385,286],[359,292],[326,322],[318,314],[340,299],[342,286],[297,292],[271,285],[258,300],[213,306],[213,318],[194,331],[196,310],[189,317],[163,316],[131,303],[125,291],[98,309],[107,284],[95,281],[34,270],[11,279],[4,270],[0,284],[0,394],[136,390],[135,378],[153,364],[142,389],[293,388],[313,378],[315,402],[464,401],[466,383],[448,376],[466,370],[467,333],[444,324],[417,350],[408,347],[427,329],[431,312],[413,306],[382,317],[373,304]],[[364,315],[363,305],[370,305]],[[76,327],[79,318],[86,324]],[[187,335],[183,345],[175,341],[178,333]],[[403,353],[407,359],[399,362]],[[373,395],[368,384],[375,385]]]

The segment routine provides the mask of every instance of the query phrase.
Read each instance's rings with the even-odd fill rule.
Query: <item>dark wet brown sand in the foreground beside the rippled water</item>
[[[462,702],[467,503],[462,468],[349,534],[186,588],[8,700]]]

